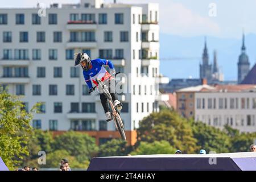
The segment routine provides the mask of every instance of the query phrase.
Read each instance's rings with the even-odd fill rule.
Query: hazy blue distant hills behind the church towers
[[[246,53],[249,56],[250,67],[256,60],[256,35],[245,36]],[[213,61],[213,50],[217,50],[218,65],[224,72],[225,80],[237,80],[237,62],[241,53],[241,39],[207,37],[209,61]],[[160,59],[177,58],[180,60],[160,61],[160,72],[170,78],[199,77],[199,63],[204,48],[204,36],[181,37],[160,34]],[[183,59],[191,57],[192,59]],[[199,57],[195,59],[195,57]]]

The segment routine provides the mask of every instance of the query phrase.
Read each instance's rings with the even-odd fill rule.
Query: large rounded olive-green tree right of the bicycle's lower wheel
[[[144,118],[137,130],[139,142],[166,140],[172,147],[191,154],[197,152],[197,140],[193,138],[191,125],[175,111],[163,110]],[[137,145],[138,145],[137,144]]]

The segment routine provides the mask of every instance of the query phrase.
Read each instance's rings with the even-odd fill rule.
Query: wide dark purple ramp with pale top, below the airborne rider
[[[256,152],[93,158],[88,171],[256,171]]]

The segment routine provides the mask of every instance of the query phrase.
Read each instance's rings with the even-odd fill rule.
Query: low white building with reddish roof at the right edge
[[[195,119],[222,129],[255,132],[256,86],[218,85],[195,93]]]

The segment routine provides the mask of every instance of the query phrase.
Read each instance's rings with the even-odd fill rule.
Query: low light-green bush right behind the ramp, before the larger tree
[[[174,154],[175,151],[169,142],[162,140],[153,143],[141,142],[131,155]]]

